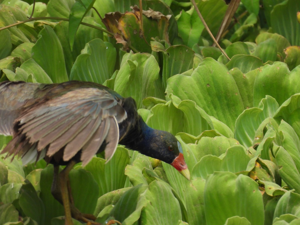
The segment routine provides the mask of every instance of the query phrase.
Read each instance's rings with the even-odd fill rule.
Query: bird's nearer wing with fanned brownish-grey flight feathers
[[[105,158],[109,161],[119,142],[118,123],[127,118],[121,101],[98,88],[79,88],[45,98],[16,119],[18,133],[6,148],[23,156],[36,145],[38,152],[46,149],[46,156],[51,157],[64,147],[64,161],[82,150],[84,166],[105,141]]]

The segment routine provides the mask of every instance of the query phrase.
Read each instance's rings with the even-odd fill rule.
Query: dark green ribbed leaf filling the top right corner
[[[300,24],[297,21],[298,0],[286,0],[271,11],[271,27],[275,33],[285,37],[291,45],[300,46]]]

